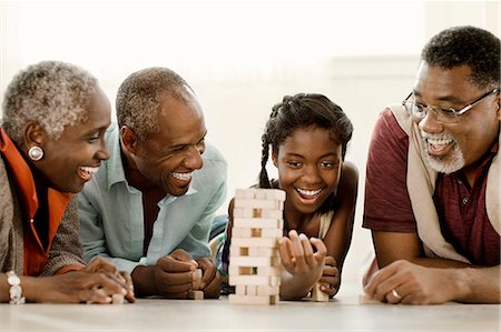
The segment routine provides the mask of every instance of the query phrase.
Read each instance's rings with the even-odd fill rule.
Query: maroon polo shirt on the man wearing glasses
[[[381,113],[374,128],[365,180],[363,227],[384,232],[416,232],[406,188],[409,137],[391,110]],[[470,188],[461,171],[439,173],[433,200],[442,234],[477,265],[500,264],[500,235],[485,210],[487,175],[499,142],[483,158]]]

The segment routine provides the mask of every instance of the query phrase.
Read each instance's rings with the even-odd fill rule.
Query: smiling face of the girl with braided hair
[[[287,194],[285,210],[314,213],[337,188],[342,147],[326,129],[299,128],[278,147],[273,162],[278,169],[279,185]]]

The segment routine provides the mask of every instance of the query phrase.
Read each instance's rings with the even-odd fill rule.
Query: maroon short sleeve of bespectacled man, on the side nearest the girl
[[[416,232],[409,198],[409,137],[391,110],[384,110],[369,148],[363,227],[374,231]]]

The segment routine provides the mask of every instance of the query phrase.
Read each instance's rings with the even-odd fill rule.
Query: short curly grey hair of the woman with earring
[[[7,87],[2,128],[20,143],[24,125],[33,121],[57,140],[66,125],[86,120],[97,89],[97,79],[73,64],[60,61],[31,64]]]

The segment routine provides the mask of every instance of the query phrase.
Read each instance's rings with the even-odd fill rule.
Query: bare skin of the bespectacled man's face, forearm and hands
[[[465,64],[443,69],[422,62],[413,92],[423,104],[459,110],[487,92],[472,84],[470,73],[471,69]],[[454,138],[452,143],[429,149],[428,153],[443,163],[450,163],[454,147],[460,147],[464,165],[459,171],[472,185],[479,159],[498,139],[500,121],[498,93],[474,105],[461,115],[458,123],[441,123],[428,114],[416,124],[423,133],[445,133]],[[373,241],[381,270],[365,286],[371,298],[404,304],[500,302],[500,265],[472,266],[459,261],[428,258],[418,233],[373,231]]]

